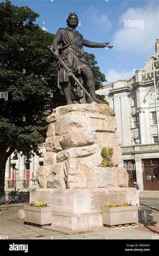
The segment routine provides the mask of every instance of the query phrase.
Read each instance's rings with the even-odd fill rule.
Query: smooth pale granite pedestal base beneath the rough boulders
[[[105,203],[131,201],[139,206],[139,193],[134,188],[34,189],[30,202],[43,201],[52,206],[52,225],[69,230],[100,227]]]

